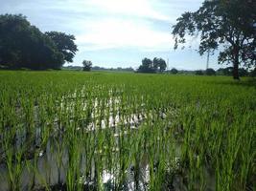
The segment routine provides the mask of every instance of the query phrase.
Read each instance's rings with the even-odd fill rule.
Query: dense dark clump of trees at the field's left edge
[[[22,14],[0,15],[0,65],[8,69],[60,69],[78,51],[75,36],[40,32]]]

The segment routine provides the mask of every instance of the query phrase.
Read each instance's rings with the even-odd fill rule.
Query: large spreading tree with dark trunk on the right
[[[200,36],[198,52],[219,49],[219,62],[233,64],[239,79],[239,65],[256,65],[256,1],[205,0],[198,11],[185,12],[177,19],[173,34],[175,49],[187,36]]]

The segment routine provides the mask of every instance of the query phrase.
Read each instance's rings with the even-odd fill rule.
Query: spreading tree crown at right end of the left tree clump
[[[78,47],[75,44],[75,36],[72,34],[65,34],[64,32],[45,32],[57,45],[58,51],[63,53],[64,60],[67,62],[73,62],[73,57],[78,51]]]

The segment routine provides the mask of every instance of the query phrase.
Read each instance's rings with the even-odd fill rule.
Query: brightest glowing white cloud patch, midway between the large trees
[[[170,33],[155,31],[147,24],[128,19],[107,18],[86,22],[84,31],[77,35],[77,42],[91,45],[87,49],[90,51],[124,47],[160,51],[171,47],[172,42]]]

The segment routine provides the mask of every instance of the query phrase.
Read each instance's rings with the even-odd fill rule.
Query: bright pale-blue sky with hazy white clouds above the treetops
[[[79,52],[73,63],[138,68],[144,57],[162,57],[168,68],[205,69],[198,39],[174,50],[172,27],[184,11],[197,11],[203,0],[0,0],[0,14],[22,13],[42,32],[74,34]],[[218,69],[217,55],[210,68]]]

